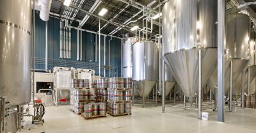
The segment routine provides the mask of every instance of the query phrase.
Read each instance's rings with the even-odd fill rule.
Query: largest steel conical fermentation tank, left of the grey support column
[[[170,0],[162,13],[164,62],[186,97],[196,97],[199,67],[204,86],[217,65],[217,1]]]

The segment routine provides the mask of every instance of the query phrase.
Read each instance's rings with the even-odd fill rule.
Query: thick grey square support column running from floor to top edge
[[[225,3],[226,1],[218,0],[218,121],[224,122],[224,87],[225,87]]]

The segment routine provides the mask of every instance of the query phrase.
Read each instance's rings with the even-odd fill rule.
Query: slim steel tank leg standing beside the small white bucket
[[[198,68],[198,119],[202,119],[202,49],[199,49],[199,68]]]

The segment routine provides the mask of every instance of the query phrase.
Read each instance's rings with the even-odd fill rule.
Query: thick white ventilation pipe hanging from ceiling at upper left
[[[40,18],[44,21],[49,20],[52,0],[40,0]]]

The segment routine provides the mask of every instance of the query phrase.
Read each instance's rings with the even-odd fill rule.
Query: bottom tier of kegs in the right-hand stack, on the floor
[[[131,114],[131,102],[109,102],[108,104],[108,114],[111,116]]]

